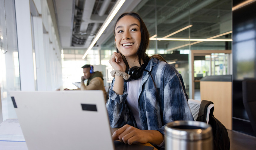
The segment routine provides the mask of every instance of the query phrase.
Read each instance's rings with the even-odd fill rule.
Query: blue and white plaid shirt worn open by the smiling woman
[[[164,126],[168,122],[194,120],[180,73],[170,64],[156,58],[150,59],[145,70],[151,72],[159,94],[150,74],[144,71],[138,100],[142,129],[158,130],[164,134]],[[137,127],[133,114],[126,104],[127,82],[124,82],[123,95],[117,95],[113,91],[113,85],[114,79],[106,104],[110,126],[120,128],[128,124]]]

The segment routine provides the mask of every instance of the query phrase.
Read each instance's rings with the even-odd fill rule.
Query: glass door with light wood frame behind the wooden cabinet
[[[200,80],[205,76],[231,74],[231,50],[192,50],[189,98],[201,100]]]

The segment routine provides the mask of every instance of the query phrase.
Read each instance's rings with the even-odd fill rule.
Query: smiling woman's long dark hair
[[[135,13],[135,12],[128,12],[128,13],[123,13],[121,14],[118,18],[117,18],[117,21],[114,25],[114,35],[116,36],[116,33],[115,33],[115,28],[116,28],[116,25],[117,25],[117,22],[123,18],[124,16],[126,15],[129,15],[129,16],[133,16],[134,18],[138,19],[139,20],[139,23],[140,23],[140,33],[141,33],[141,41],[140,41],[140,44],[139,44],[139,49],[136,53],[136,57],[138,58],[138,61],[139,61],[139,64],[141,65],[141,62],[140,60],[142,59],[142,61],[148,61],[149,58],[148,58],[148,55],[146,54],[146,50],[148,49],[149,47],[149,32],[148,32],[148,29],[145,25],[145,23],[143,22],[143,20],[141,19],[141,17],[139,16],[138,13]],[[117,52],[118,49],[117,49]],[[120,52],[119,52],[120,53]],[[122,54],[121,54],[122,55]],[[126,64],[126,70],[129,69],[129,65],[125,59],[125,57],[122,55],[123,57],[123,61],[124,63]]]

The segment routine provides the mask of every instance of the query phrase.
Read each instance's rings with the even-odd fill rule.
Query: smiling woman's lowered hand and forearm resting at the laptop
[[[164,140],[164,135],[156,130],[140,130],[130,125],[124,125],[112,135],[113,140],[120,140],[131,145],[132,143],[152,143],[160,145]]]

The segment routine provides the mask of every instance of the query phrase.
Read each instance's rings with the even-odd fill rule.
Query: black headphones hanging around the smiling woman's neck
[[[131,80],[139,79],[142,76],[143,71],[147,67],[147,65],[148,65],[148,61],[145,61],[140,67],[137,67],[137,66],[131,67],[128,71],[130,78],[125,81],[130,82]]]

